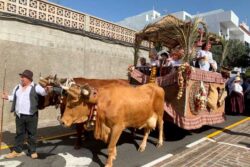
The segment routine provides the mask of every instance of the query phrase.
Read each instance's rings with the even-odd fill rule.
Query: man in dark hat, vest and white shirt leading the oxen
[[[20,84],[18,84],[12,95],[3,93],[2,98],[12,101],[11,112],[16,115],[16,137],[15,145],[11,153],[5,158],[15,158],[22,155],[23,143],[26,132],[28,133],[28,153],[31,158],[38,157],[36,153],[36,134],[38,123],[38,94],[47,95],[47,88],[33,82],[33,72],[25,70],[20,75]]]

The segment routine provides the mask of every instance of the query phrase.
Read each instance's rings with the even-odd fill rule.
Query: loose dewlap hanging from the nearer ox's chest
[[[102,140],[105,143],[109,141],[110,128],[105,125],[102,114],[97,112],[94,136],[97,140]]]

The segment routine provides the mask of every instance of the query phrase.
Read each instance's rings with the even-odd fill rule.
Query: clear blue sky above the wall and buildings
[[[178,11],[190,14],[216,9],[232,10],[240,22],[250,24],[250,0],[49,0],[62,6],[111,22],[134,16],[153,8],[161,15]]]

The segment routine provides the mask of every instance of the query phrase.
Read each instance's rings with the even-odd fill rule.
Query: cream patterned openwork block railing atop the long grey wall
[[[133,43],[136,31],[43,0],[0,0],[0,11]],[[144,46],[147,44],[144,43]]]

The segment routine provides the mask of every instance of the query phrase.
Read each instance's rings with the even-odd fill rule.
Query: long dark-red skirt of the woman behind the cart
[[[232,91],[230,95],[230,110],[232,113],[243,113],[245,109],[244,96]]]

